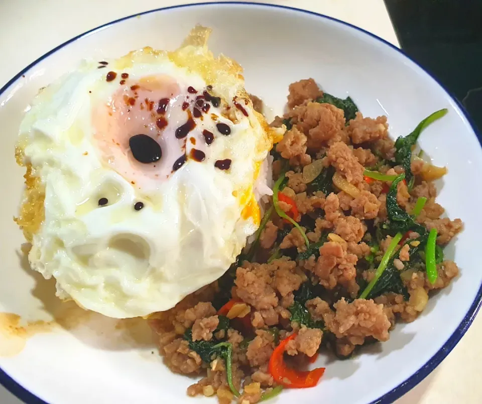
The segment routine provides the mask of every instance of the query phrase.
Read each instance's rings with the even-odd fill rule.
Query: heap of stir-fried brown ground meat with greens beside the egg
[[[442,258],[432,284],[419,253],[430,229],[437,230],[440,247],[463,227],[460,219],[444,217],[434,182],[423,179],[425,163],[414,159],[413,181],[400,181],[396,198],[388,194],[391,181],[365,176],[366,169],[394,176],[405,171],[395,162],[387,118],[357,112],[346,122],[345,112],[317,102],[320,96],[313,79],[293,83],[288,112],[272,123],[290,127],[272,152],[272,171],[275,181],[281,179],[280,192],[292,201],[279,200],[278,210],[265,207],[272,213],[263,220],[256,247],[248,246],[219,280],[149,319],[167,366],[204,376],[188,387],[190,396],[255,404],[278,384],[269,363],[280,341],[289,338],[284,349],[288,366],[306,365],[327,350],[347,357],[365,343],[387,341],[397,321],[414,321],[434,291],[459,275],[457,265]],[[251,97],[260,110],[261,100]],[[319,165],[320,174],[308,181]],[[395,204],[413,215],[420,197],[427,200],[415,220],[424,228],[412,231],[412,223],[410,231],[400,230],[403,238],[388,257],[399,229],[392,225],[406,217],[394,216]],[[369,292],[367,284],[384,256],[389,259],[380,279],[388,278],[382,284],[379,279],[368,296],[362,294]],[[228,383],[228,369],[238,397]]]

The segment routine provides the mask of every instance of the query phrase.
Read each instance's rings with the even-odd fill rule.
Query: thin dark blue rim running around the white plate
[[[389,46],[391,49],[395,50],[398,53],[401,53],[403,56],[405,56],[407,59],[412,61],[416,66],[418,66],[421,70],[423,70],[425,73],[427,73],[443,90],[448,94],[448,96],[452,99],[452,101],[458,106],[460,111],[462,112],[462,115],[465,117],[469,125],[471,126],[473,132],[475,133],[475,136],[477,137],[477,140],[480,144],[482,138],[480,136],[480,133],[478,133],[478,130],[473,123],[472,119],[470,118],[469,114],[467,113],[466,109],[464,106],[435,78],[433,77],[430,73],[428,73],[422,66],[420,66],[417,62],[412,60],[408,55],[405,54],[401,49],[397,48],[390,42],[372,34],[371,32],[368,32],[362,28],[356,27],[352,24],[346,23],[344,21],[338,20],[336,18],[328,17],[323,14],[315,13],[312,11],[308,10],[301,10],[301,9],[296,9],[294,7],[288,7],[288,6],[279,6],[279,5],[273,5],[273,4],[265,4],[265,3],[250,3],[250,2],[213,2],[213,3],[195,3],[195,4],[185,4],[185,5],[179,5],[179,6],[171,6],[171,7],[162,7],[160,9],[155,9],[155,10],[149,10],[143,13],[139,14],[134,14],[132,16],[128,17],[123,17],[119,18],[118,20],[112,21],[110,23],[101,25],[97,28],[94,28],[90,31],[84,32],[83,34],[77,35],[76,37],[64,42],[63,44],[57,46],[56,48],[52,49],[51,51],[47,52],[45,55],[41,56],[38,58],[36,61],[32,62],[30,65],[28,65],[26,68],[24,68],[20,73],[18,73],[15,77],[13,77],[7,84],[5,84],[1,89],[0,89],[0,95],[2,95],[7,88],[9,88],[14,82],[16,82],[19,78],[22,77],[23,74],[25,74],[27,71],[29,71],[32,67],[34,67],[36,64],[47,58],[48,56],[52,55],[53,53],[57,52],[59,49],[63,48],[64,46],[80,39],[83,38],[87,35],[93,34],[96,31],[103,30],[104,28],[110,27],[114,24],[117,24],[119,22],[129,20],[131,18],[135,18],[138,16],[143,16],[146,14],[152,14],[152,13],[157,13],[160,11],[165,11],[165,10],[172,10],[172,9],[181,9],[181,8],[188,8],[188,7],[200,7],[200,6],[224,6],[224,5],[237,5],[237,6],[256,6],[256,7],[263,7],[263,8],[275,8],[275,9],[284,9],[284,10],[289,10],[289,11],[294,11],[297,13],[304,13],[304,14],[309,14],[312,16],[320,17],[326,20],[334,21],[336,23],[345,25],[347,27],[353,28],[356,31],[363,32],[366,35],[369,35],[373,39],[376,39],[377,41],[380,41],[384,43],[385,45]],[[465,314],[465,317],[461,321],[461,323],[458,325],[456,330],[453,332],[453,334],[450,336],[450,338],[442,345],[442,347],[423,365],[420,369],[418,369],[414,374],[412,374],[409,378],[407,378],[405,381],[400,383],[397,387],[394,387],[392,390],[389,392],[385,393],[381,397],[377,398],[376,400],[370,402],[369,404],[390,404],[394,402],[397,398],[400,398],[403,394],[405,394],[407,391],[415,387],[418,383],[420,383],[425,377],[427,377],[432,370],[434,370],[440,362],[450,353],[450,351],[455,347],[455,345],[460,341],[460,338],[462,338],[463,334],[467,331],[468,327],[470,324],[472,324],[473,319],[475,318],[478,310],[480,309],[480,306],[482,305],[482,285],[480,285],[480,288],[478,289],[477,295],[475,296],[475,299],[473,303],[470,306],[470,309],[467,311],[467,314]],[[26,404],[48,404],[47,401],[44,401],[43,399],[37,397],[35,394],[31,393],[29,390],[27,390],[25,387],[23,387],[20,383],[18,383],[16,380],[14,380],[12,377],[10,377],[1,367],[0,367],[0,383],[7,388],[12,394],[17,396],[19,399],[24,401]]]

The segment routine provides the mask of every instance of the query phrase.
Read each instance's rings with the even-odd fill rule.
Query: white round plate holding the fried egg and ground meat
[[[66,318],[80,312],[62,305],[59,315],[52,284],[19,258],[24,240],[12,216],[23,175],[14,161],[17,129],[38,89],[74,69],[83,57],[101,60],[147,45],[175,48],[197,23],[213,28],[211,49],[236,59],[245,68],[248,91],[261,96],[275,113],[283,110],[288,85],[308,77],[329,93],[349,94],[366,116],[386,114],[394,138],[408,134],[431,112],[448,108],[442,120],[423,132],[420,144],[436,165],[449,168],[438,202],[450,217],[465,222],[465,230],[445,250],[460,266],[461,276],[429,301],[419,319],[397,325],[388,342],[363,350],[352,360],[320,358],[318,364],[327,369],[317,387],[285,390],[276,398],[280,404],[392,402],[440,363],[478,310],[482,193],[475,176],[482,172],[480,146],[457,102],[392,45],[328,17],[255,4],[180,6],[115,21],[52,50],[0,90],[4,139],[0,311],[29,320],[50,319],[56,312],[67,328],[45,326],[46,332],[40,333],[36,330],[42,327],[31,325],[26,335],[12,341],[0,327],[0,337],[4,335],[0,351],[8,353],[7,342],[19,351],[0,357],[0,381],[29,404],[195,402],[185,393],[193,380],[171,373],[162,364],[144,323],[84,315],[76,325],[66,324]],[[0,326],[5,326],[5,316],[0,318]],[[134,329],[128,327],[133,324]]]

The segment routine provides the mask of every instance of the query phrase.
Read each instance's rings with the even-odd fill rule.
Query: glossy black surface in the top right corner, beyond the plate
[[[465,106],[482,131],[482,0],[385,4],[402,49]]]

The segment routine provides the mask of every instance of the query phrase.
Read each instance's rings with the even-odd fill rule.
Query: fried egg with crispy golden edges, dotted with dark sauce
[[[209,34],[83,62],[26,113],[16,221],[62,299],[116,318],[170,309],[218,279],[258,228],[282,129],[253,109],[242,68],[212,55]]]

